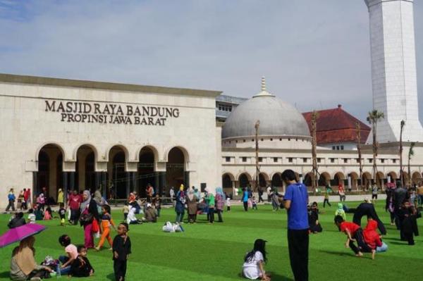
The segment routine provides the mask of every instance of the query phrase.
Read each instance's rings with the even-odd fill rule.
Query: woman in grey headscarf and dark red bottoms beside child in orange
[[[84,245],[86,249],[94,248],[93,224],[99,225],[99,211],[97,202],[91,198],[90,191],[84,190],[82,193],[80,223],[84,227]],[[95,222],[94,222],[95,220]],[[97,232],[97,231],[95,231]]]

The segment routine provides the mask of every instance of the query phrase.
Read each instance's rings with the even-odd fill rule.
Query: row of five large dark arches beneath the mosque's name
[[[180,146],[168,149],[164,156],[166,163],[163,163],[161,171],[157,171],[159,154],[154,146],[143,146],[138,151],[137,162],[131,162],[132,170],[136,166],[136,171],[133,172],[128,172],[128,150],[121,145],[111,146],[107,161],[102,163],[97,162],[98,151],[91,144],[78,146],[75,161],[66,162],[64,156],[64,150],[58,144],[44,144],[39,149],[38,169],[34,176],[35,193],[41,192],[45,187],[47,196],[54,198],[59,188],[91,191],[102,188],[104,195],[123,199],[128,196],[129,190],[135,190],[144,196],[148,184],[153,185],[157,192],[164,189],[166,191],[166,187],[189,184],[189,173],[186,172],[188,151]],[[97,169],[99,164],[102,164],[102,169]]]

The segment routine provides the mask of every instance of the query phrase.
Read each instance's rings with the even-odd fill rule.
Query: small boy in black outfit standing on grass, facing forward
[[[116,281],[125,280],[126,263],[131,253],[128,230],[128,223],[120,223],[118,225],[118,235],[113,240],[113,268]]]

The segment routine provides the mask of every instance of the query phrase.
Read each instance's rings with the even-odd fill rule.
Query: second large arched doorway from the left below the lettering
[[[82,145],[76,152],[75,163],[75,189],[94,192],[95,186],[95,154],[94,150],[87,145]]]

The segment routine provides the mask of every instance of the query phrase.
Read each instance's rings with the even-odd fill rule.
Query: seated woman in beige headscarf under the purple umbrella
[[[13,249],[11,259],[11,280],[30,280],[33,277],[44,277],[51,268],[38,266],[35,261],[35,237],[23,239],[19,246]]]

